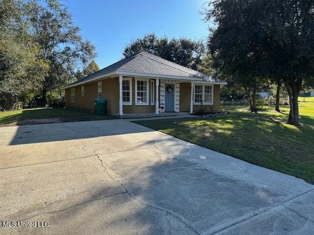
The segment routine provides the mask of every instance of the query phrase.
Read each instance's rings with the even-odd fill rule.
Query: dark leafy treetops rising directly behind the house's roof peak
[[[158,38],[154,33],[150,33],[128,44],[123,55],[128,57],[141,51],[150,52],[163,59],[196,70],[205,55],[205,46],[202,41],[188,38],[169,40],[165,36]]]

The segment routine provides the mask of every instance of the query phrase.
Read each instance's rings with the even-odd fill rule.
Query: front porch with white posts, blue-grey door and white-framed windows
[[[192,79],[119,75],[120,118],[171,117],[219,109],[219,85]]]

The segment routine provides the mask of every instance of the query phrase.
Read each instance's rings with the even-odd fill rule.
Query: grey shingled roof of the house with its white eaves
[[[215,77],[188,69],[184,66],[143,51],[109,65],[108,67],[94,72],[86,77],[83,77],[64,87],[64,89],[93,81],[98,77],[101,78],[102,76],[105,77],[114,74],[127,76],[150,76],[169,79],[189,79],[215,84],[227,84],[226,82]]]

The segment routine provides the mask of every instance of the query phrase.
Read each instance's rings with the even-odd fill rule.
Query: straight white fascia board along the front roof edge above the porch
[[[194,81],[197,83],[205,83],[205,84],[227,85],[227,82],[207,82],[207,81],[204,81],[203,78],[198,78],[198,77],[183,77],[183,76],[160,75],[160,74],[126,72],[126,71],[116,71],[116,74],[126,75],[126,76],[136,76],[136,77],[154,77],[154,78],[165,78],[165,79],[184,80],[184,81],[187,80],[187,81]]]

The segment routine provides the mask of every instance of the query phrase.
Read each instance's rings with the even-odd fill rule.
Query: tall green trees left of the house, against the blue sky
[[[0,1],[0,110],[62,104],[95,56],[59,1]]]

